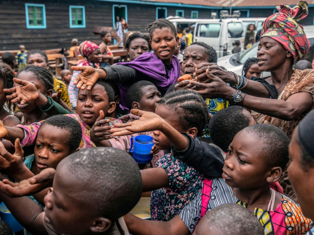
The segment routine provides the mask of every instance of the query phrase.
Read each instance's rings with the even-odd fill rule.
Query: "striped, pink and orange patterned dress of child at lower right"
[[[282,194],[282,201],[274,211],[255,208],[253,214],[260,220],[265,235],[297,235],[310,230],[312,221],[303,216],[301,208]],[[192,233],[204,214],[227,203],[246,204],[235,197],[224,179],[204,180],[195,199],[179,212],[180,218]]]

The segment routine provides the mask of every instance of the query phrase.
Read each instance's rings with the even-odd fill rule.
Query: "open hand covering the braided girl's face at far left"
[[[36,100],[39,98],[39,92],[35,84],[17,78],[13,78],[13,81],[20,86],[3,90],[5,93],[10,94],[7,95],[6,98],[11,100],[12,103],[17,103],[21,101],[20,104],[23,105],[28,101]]]

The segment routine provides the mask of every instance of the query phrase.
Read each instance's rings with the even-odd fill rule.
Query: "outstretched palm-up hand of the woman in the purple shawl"
[[[72,66],[72,70],[80,71],[78,76],[74,79],[74,85],[77,85],[78,89],[87,90],[92,89],[92,86],[97,82],[99,78],[98,72],[91,66]]]

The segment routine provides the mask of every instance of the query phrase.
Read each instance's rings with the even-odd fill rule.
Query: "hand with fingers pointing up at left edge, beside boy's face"
[[[0,142],[0,171],[4,174],[11,175],[13,172],[19,171],[24,166],[24,151],[19,139],[15,140],[15,153],[9,153],[2,142]]]

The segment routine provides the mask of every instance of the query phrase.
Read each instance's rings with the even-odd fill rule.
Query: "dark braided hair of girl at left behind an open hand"
[[[31,65],[20,70],[18,75],[21,72],[32,72],[34,75],[36,75],[38,80],[41,80],[45,83],[45,92],[53,90],[53,77],[47,69]]]

